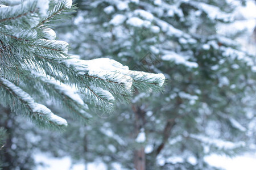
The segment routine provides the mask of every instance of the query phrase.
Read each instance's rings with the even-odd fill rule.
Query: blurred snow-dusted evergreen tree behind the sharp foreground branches
[[[247,114],[247,97],[255,94],[255,58],[233,41],[236,32],[217,32],[218,23],[234,22],[236,6],[217,0],[79,4],[76,32],[64,34],[73,52],[146,67],[168,83],[163,94],[135,94],[130,105],[118,107],[117,117],[80,128],[81,140],[69,136],[80,142],[68,151],[76,159],[97,158],[109,169],[114,163],[127,169],[214,169],[205,156],[233,156],[249,147],[254,114]]]

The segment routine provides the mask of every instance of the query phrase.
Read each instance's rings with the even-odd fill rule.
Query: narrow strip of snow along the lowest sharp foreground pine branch
[[[14,105],[10,105],[11,108],[16,109],[23,108],[28,116],[39,122],[39,125],[52,126],[60,128],[61,126],[67,126],[67,121],[63,118],[56,116],[46,106],[36,103],[34,99],[26,92],[24,92],[18,86],[11,83],[9,80],[0,78],[1,99],[15,102]],[[2,101],[2,103],[5,101]],[[59,127],[60,126],[60,127]]]

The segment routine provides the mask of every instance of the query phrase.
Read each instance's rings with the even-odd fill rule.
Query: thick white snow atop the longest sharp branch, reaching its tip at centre
[[[111,79],[119,84],[124,84],[127,89],[130,89],[134,80],[141,80],[149,83],[157,83],[158,86],[163,86],[163,74],[151,74],[143,71],[131,71],[129,67],[123,66],[121,63],[109,58],[97,58],[89,61],[71,58],[65,59],[63,62],[67,66],[73,66],[79,71],[79,74],[88,73],[91,76],[97,76],[102,79]]]

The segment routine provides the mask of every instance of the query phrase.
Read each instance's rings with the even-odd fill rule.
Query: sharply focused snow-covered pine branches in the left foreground
[[[113,112],[115,101],[129,100],[134,88],[159,91],[163,86],[163,74],[131,71],[113,59],[85,61],[69,55],[68,43],[55,40],[52,27],[68,16],[63,12],[74,9],[71,0],[1,1],[0,5],[1,126],[10,133],[1,148],[4,168],[31,168],[22,167],[18,159],[14,164],[11,158],[17,131],[11,124],[20,118],[13,113],[44,128],[63,130],[67,121],[53,114],[47,103],[61,105],[76,120],[87,122],[92,111]]]

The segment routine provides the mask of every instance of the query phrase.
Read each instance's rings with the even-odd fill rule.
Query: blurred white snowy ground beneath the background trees
[[[42,165],[39,165],[36,170],[84,170],[85,165],[75,164],[72,166],[71,159],[66,156],[64,158],[53,158],[49,156],[48,154],[36,154],[35,155],[36,163],[44,163],[47,165],[47,167],[43,167]],[[223,168],[226,170],[255,170],[256,169],[256,153],[255,154],[245,154],[241,156],[236,156],[234,158],[228,158],[226,156],[220,156],[220,155],[210,155],[205,160],[212,166]],[[118,165],[116,166],[116,170],[121,170],[121,167]],[[89,163],[87,165],[88,170],[105,170],[106,167],[103,163],[95,162],[95,163]]]

